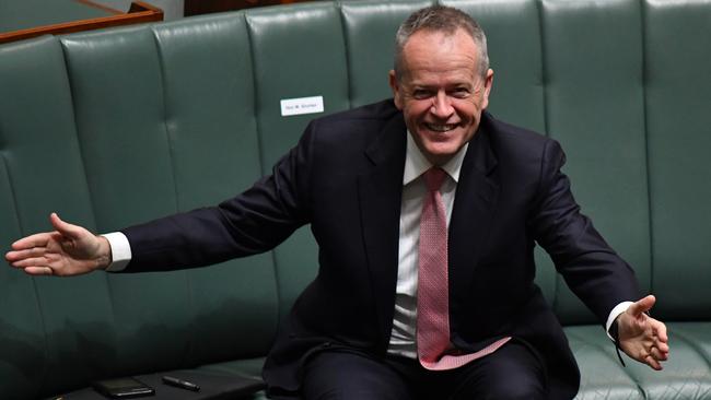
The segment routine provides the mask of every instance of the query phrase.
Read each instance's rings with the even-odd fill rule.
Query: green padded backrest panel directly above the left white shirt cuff
[[[152,32],[133,27],[74,35],[62,45],[98,228],[175,212],[161,60]]]

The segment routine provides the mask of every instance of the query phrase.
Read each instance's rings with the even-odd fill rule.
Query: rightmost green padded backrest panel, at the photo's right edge
[[[665,319],[711,317],[711,7],[648,1],[652,285]]]

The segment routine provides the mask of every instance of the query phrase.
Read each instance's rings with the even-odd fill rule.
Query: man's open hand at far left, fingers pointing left
[[[5,259],[31,275],[78,275],[110,263],[108,240],[69,224],[56,213],[49,216],[55,232],[24,237],[12,244]]]

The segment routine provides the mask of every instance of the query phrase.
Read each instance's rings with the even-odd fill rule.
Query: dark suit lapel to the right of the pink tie
[[[493,174],[497,158],[483,129],[481,127],[469,142],[450,222],[450,313],[454,316],[462,315],[458,310],[466,307],[500,191]],[[453,331],[456,331],[456,321],[457,318],[451,318]]]

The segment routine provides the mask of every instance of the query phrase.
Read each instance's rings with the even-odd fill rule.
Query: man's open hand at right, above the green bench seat
[[[617,317],[620,349],[630,357],[656,370],[669,356],[666,326],[646,314],[656,302],[649,295],[632,304]]]

